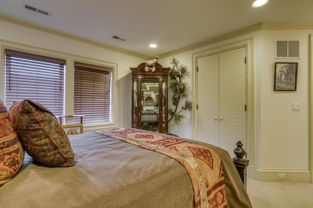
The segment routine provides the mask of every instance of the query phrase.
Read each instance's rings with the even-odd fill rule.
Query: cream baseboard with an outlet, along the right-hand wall
[[[248,166],[247,177],[258,181],[288,181],[288,182],[308,182],[311,180],[310,170],[278,170],[278,169],[258,169]],[[285,174],[286,178],[278,178],[278,174]]]

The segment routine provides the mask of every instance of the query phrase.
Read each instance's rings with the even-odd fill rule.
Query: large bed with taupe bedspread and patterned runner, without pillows
[[[73,164],[52,167],[25,152],[21,168],[0,186],[0,207],[252,207],[232,159],[221,148],[132,128],[67,137],[74,153]],[[183,152],[186,144],[217,155],[209,158],[211,164],[218,164],[220,159],[220,172],[210,173],[217,176],[218,182],[214,179],[204,183],[206,202],[199,196],[201,179],[193,178],[190,173],[197,167],[183,164],[191,158]],[[170,155],[180,148],[183,153]]]

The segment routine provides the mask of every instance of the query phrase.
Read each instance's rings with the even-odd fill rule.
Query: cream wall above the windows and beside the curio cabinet
[[[129,67],[136,67],[145,60],[7,21],[0,20],[0,28],[0,45],[2,47],[10,46],[53,56],[67,57],[67,63],[72,62],[73,59],[81,59],[116,67],[118,88],[118,94],[116,94],[118,98],[114,111],[118,113],[116,125],[131,127],[132,82],[131,75],[127,72],[130,71]],[[3,51],[1,51],[1,57],[3,57]],[[68,64],[66,70],[73,70],[69,66],[72,66],[72,64]],[[3,92],[3,89],[1,92]],[[3,96],[1,92],[0,97]]]

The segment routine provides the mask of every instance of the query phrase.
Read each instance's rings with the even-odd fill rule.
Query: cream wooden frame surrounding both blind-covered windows
[[[52,58],[59,58],[66,60],[66,71],[65,71],[65,106],[64,113],[65,114],[73,114],[74,112],[74,62],[88,63],[94,64],[103,67],[112,68],[112,122],[101,123],[101,124],[92,124],[92,125],[84,125],[84,132],[86,131],[94,131],[94,130],[103,130],[108,128],[115,128],[118,122],[118,111],[115,111],[118,107],[118,91],[117,91],[117,63],[109,62],[106,60],[83,57],[79,55],[73,55],[68,53],[63,53],[59,51],[39,48],[35,46],[29,46],[21,43],[15,43],[5,40],[0,40],[1,46],[1,62],[0,65],[0,99],[5,102],[5,50],[13,50],[20,51],[30,54],[35,54],[39,56],[46,56]],[[70,77],[73,77],[72,79]],[[65,121],[65,124],[71,124],[72,120],[68,119]]]

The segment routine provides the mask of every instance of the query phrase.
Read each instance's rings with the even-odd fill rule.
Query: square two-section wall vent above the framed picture
[[[275,58],[300,58],[301,40],[275,40]]]

